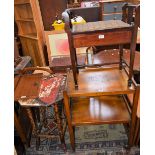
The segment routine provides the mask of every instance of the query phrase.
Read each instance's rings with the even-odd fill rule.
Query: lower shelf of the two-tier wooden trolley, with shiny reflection
[[[128,123],[130,114],[122,96],[74,98],[72,125]]]

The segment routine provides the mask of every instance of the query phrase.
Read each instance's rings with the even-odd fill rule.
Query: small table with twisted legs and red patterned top
[[[34,74],[36,75],[36,74]],[[17,81],[18,77],[15,77],[15,81]],[[53,79],[53,80],[52,80]],[[52,82],[53,81],[53,82]],[[40,138],[52,138],[59,136],[62,147],[64,151],[66,151],[64,133],[66,129],[66,122],[62,120],[63,111],[59,111],[58,102],[63,99],[63,90],[65,89],[66,76],[61,74],[53,74],[48,76],[43,76],[40,86],[40,92],[38,98],[21,98],[18,100],[19,105],[25,108],[27,116],[31,122],[33,128],[33,134],[37,138],[36,139],[36,147],[38,149],[40,144]],[[54,86],[55,85],[55,86]],[[50,89],[51,88],[51,89]],[[54,89],[56,88],[56,89]],[[16,90],[15,90],[16,91]],[[53,97],[53,95],[55,97]],[[46,118],[46,110],[47,107],[52,106],[54,109],[53,117],[48,119],[52,120],[48,121]],[[39,113],[38,109],[39,108]],[[41,114],[41,118],[40,118]],[[61,116],[60,116],[61,115]],[[16,115],[15,115],[16,116]],[[64,116],[63,116],[64,117]],[[15,117],[16,118],[16,117]],[[64,118],[63,118],[64,119]],[[22,133],[22,127],[18,121],[15,119],[15,126],[19,129],[23,137],[23,141],[25,142],[25,135]],[[53,135],[53,129],[50,125],[53,124],[54,128],[58,129],[58,135]],[[42,127],[48,129],[45,133],[42,131]]]

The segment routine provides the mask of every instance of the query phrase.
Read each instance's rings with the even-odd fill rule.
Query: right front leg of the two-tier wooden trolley
[[[136,91],[134,93],[133,98],[133,106],[132,106],[132,112],[131,112],[131,123],[130,123],[130,133],[129,133],[129,146],[133,146],[133,137],[135,133],[135,123],[136,123],[136,116],[137,116],[137,106],[138,106],[138,100],[139,100],[139,92],[140,92],[140,86],[136,87]]]

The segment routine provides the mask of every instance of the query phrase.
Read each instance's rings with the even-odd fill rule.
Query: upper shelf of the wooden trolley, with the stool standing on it
[[[135,91],[128,87],[128,76],[118,68],[83,69],[77,75],[78,88],[75,88],[73,73],[67,73],[67,93],[70,97],[130,94]]]

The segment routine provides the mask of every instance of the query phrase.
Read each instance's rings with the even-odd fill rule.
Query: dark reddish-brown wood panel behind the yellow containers
[[[39,0],[41,16],[43,20],[44,30],[49,31],[55,20],[56,14],[61,14],[67,8],[67,0]]]

